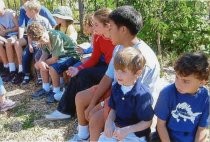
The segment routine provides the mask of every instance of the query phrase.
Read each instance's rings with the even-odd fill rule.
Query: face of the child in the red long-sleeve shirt
[[[110,28],[109,24],[104,25],[97,18],[95,18],[95,17],[93,18],[94,33],[109,37],[109,35],[107,35],[107,33],[109,32],[109,28]]]

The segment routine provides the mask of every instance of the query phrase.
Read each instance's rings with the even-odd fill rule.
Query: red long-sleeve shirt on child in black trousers
[[[112,58],[114,47],[115,45],[112,44],[112,41],[110,39],[107,39],[101,35],[94,35],[92,55],[85,63],[78,66],[77,68],[81,70],[95,66],[99,62],[102,55],[105,58],[105,62],[109,64]]]

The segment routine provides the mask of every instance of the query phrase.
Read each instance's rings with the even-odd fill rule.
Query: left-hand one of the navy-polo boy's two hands
[[[115,131],[115,125],[114,122],[111,120],[106,121],[105,127],[104,127],[104,133],[107,137],[111,138],[113,136],[113,132]]]

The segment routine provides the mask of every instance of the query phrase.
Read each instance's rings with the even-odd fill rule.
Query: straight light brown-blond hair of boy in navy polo
[[[144,68],[145,62],[145,58],[139,49],[126,47],[116,53],[114,57],[114,68],[122,71],[127,68],[135,74],[138,70]]]

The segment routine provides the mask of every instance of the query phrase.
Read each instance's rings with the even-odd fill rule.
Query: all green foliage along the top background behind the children
[[[79,21],[77,0],[40,0],[53,11],[59,5],[69,5],[76,21]],[[85,13],[102,7],[115,9],[121,5],[133,5],[141,12],[144,26],[138,37],[157,51],[159,40],[161,54],[204,51],[210,55],[210,25],[206,17],[210,11],[208,1],[182,0],[82,0]],[[20,1],[5,0],[6,5],[17,10]],[[160,35],[160,38],[158,38]]]

